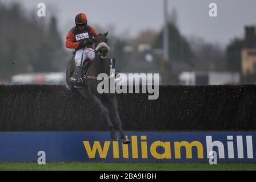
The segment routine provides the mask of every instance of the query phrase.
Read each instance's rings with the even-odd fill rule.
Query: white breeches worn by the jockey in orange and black
[[[83,60],[82,60],[82,54],[83,54]],[[75,67],[81,66],[81,61],[90,60],[93,61],[95,57],[94,49],[92,48],[85,48],[78,49],[77,52],[75,52]],[[83,64],[82,62],[82,64]]]

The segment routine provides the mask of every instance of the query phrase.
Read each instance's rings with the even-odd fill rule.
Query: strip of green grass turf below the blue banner
[[[254,170],[256,163],[82,163],[58,162],[38,165],[37,163],[0,163],[0,170],[89,170],[89,171],[231,171]]]

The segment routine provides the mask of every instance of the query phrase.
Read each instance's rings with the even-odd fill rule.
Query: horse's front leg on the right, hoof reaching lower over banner
[[[122,121],[119,117],[119,112],[118,112],[118,102],[117,102],[117,96],[112,95],[110,97],[107,97],[107,100],[110,102],[111,109],[113,110],[114,113],[114,123],[115,125],[118,126],[118,130],[120,132],[122,142],[123,144],[129,144],[130,140],[125,137],[125,134],[123,133],[123,128],[122,128]]]

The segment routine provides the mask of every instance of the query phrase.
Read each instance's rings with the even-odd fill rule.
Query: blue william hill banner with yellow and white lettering
[[[256,162],[256,132],[1,132],[0,162]],[[40,152],[41,151],[41,152]]]

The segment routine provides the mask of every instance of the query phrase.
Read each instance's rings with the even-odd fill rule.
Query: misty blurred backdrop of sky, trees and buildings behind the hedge
[[[217,17],[209,16],[212,2]],[[37,16],[38,3],[45,3],[46,17]],[[67,32],[85,13],[88,24],[109,31],[109,57],[120,72],[160,73],[162,84],[218,84],[227,77],[224,84],[254,84],[255,7],[253,0],[169,0],[164,60],[162,0],[0,1],[0,82],[21,73],[64,73],[72,56]]]

